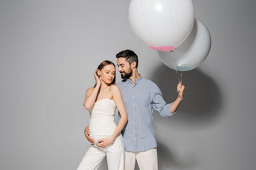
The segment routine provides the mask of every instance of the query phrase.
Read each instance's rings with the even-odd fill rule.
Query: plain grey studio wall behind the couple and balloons
[[[183,72],[177,113],[154,114],[159,169],[254,169],[255,2],[193,3],[210,31],[211,51]],[[76,169],[89,148],[84,93],[98,64],[116,63],[119,51],[134,50],[142,77],[160,87],[167,103],[177,98],[176,72],[132,34],[129,4],[0,2],[0,169]],[[105,160],[99,169],[107,169]]]

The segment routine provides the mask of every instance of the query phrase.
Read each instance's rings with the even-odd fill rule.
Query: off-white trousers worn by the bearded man
[[[157,148],[144,152],[126,152],[124,170],[134,170],[137,160],[140,170],[158,170]]]

